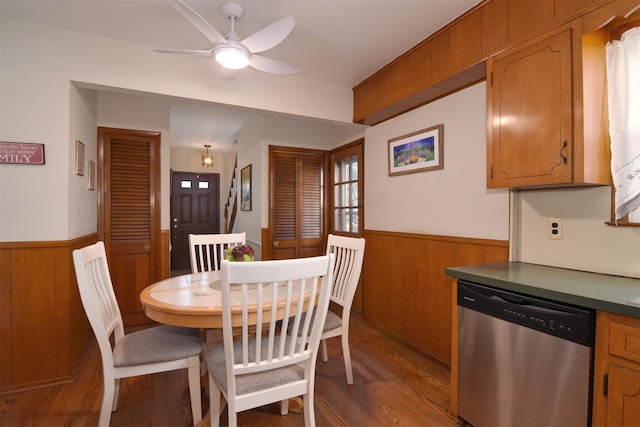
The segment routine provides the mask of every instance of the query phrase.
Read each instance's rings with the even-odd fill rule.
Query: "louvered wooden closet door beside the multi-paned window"
[[[323,255],[326,152],[270,147],[271,259]]]

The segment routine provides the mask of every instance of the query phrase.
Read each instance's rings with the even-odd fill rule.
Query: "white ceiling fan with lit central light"
[[[223,67],[239,70],[247,65],[256,70],[272,74],[296,74],[300,67],[256,55],[280,44],[293,30],[295,21],[291,16],[278,19],[262,30],[240,40],[235,31],[235,23],[244,16],[244,8],[235,2],[224,2],[220,5],[222,14],[231,21],[231,30],[223,37],[213,26],[182,0],[170,0],[182,16],[195,26],[213,43],[209,50],[192,49],[154,49],[160,53],[181,53],[201,56],[213,56]]]

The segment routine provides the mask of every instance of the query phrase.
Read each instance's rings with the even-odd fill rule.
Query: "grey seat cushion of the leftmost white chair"
[[[135,366],[185,359],[202,352],[200,331],[157,326],[125,335],[113,349],[113,365]]]

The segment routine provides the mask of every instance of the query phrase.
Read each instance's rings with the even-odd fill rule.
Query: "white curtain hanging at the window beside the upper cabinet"
[[[617,220],[640,207],[640,27],[607,43],[606,55]]]

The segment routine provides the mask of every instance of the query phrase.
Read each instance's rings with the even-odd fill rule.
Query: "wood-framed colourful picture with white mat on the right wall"
[[[389,140],[389,176],[444,168],[444,125]]]

